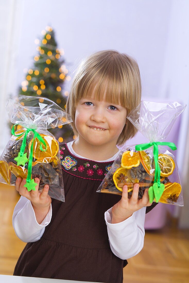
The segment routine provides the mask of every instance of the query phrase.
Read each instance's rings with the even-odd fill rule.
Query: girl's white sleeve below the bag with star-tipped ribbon
[[[23,242],[36,242],[41,239],[45,227],[50,223],[52,217],[52,206],[44,220],[39,224],[36,220],[35,212],[31,201],[21,196],[16,204],[12,216],[12,226],[17,237]]]

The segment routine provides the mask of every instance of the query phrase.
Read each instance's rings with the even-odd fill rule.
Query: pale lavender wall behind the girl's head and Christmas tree
[[[116,49],[134,56],[147,96],[159,91],[167,44],[171,0],[24,1],[17,82],[33,64],[36,37],[46,25],[56,31],[65,59],[75,68],[94,51]]]

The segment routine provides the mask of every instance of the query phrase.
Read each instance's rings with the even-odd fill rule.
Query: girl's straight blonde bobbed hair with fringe
[[[95,89],[95,91],[94,91]],[[88,56],[79,66],[71,85],[65,111],[71,116],[74,134],[76,106],[81,98],[94,96],[126,108],[127,114],[141,102],[141,78],[137,62],[131,56],[116,50],[103,50]],[[117,145],[135,136],[137,129],[127,120],[118,137]]]

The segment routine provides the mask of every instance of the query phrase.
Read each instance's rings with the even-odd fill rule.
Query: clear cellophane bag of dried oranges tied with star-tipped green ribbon
[[[0,157],[0,182],[15,185],[17,177],[26,178],[31,191],[38,177],[39,191],[48,184],[49,196],[65,201],[59,142],[47,129],[73,122],[71,117],[48,98],[25,95],[10,98],[6,110],[14,125]]]

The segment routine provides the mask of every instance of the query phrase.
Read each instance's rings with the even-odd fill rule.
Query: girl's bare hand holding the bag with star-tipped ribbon
[[[27,188],[24,187],[26,184],[26,179],[22,180],[22,178],[18,177],[15,183],[16,190],[21,196],[24,196],[31,201],[34,210],[39,210],[41,212],[48,211],[51,204],[51,198],[48,195],[49,185],[45,185],[43,191],[40,193],[38,191],[40,179],[35,178],[34,181],[37,183],[37,186],[35,186],[35,191],[31,190],[28,192]]]

